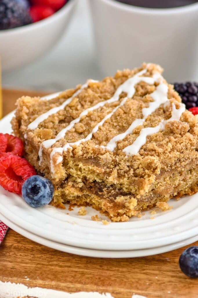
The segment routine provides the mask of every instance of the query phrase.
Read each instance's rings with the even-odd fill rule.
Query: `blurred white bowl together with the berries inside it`
[[[77,0],[1,0],[0,57],[3,71],[45,55],[61,38]]]

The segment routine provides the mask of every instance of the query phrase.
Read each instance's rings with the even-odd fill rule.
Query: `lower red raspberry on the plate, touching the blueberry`
[[[0,185],[11,193],[21,194],[21,188],[30,176],[36,175],[26,159],[7,154],[0,158]]]

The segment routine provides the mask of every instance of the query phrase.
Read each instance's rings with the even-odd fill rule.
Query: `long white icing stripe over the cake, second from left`
[[[54,139],[49,139],[49,140],[46,140],[44,142],[41,143],[40,145],[40,148],[39,148],[39,158],[40,158],[40,161],[39,161],[39,165],[41,164],[42,162],[42,148],[45,147],[45,148],[49,148],[51,147],[52,145],[54,145],[58,140],[60,140],[61,138],[64,138],[65,134],[67,131],[69,131],[71,128],[74,127],[75,123],[79,122],[80,119],[83,117],[83,116],[87,116],[88,112],[89,111],[93,111],[93,110],[96,110],[100,107],[103,107],[106,103],[114,103],[116,101],[119,100],[119,97],[120,97],[120,94],[122,92],[125,92],[127,94],[127,97],[128,98],[131,98],[133,97],[134,93],[135,93],[135,85],[141,81],[144,81],[148,84],[154,84],[155,81],[156,81],[156,75],[158,75],[159,77],[159,74],[155,74],[153,75],[153,77],[142,77],[143,74],[145,74],[147,72],[147,69],[143,69],[141,70],[140,72],[138,72],[136,75],[134,75],[133,77],[130,77],[128,80],[126,80],[123,84],[121,84],[118,89],[115,91],[113,97],[111,97],[110,99],[108,100],[103,100],[99,103],[97,103],[96,105],[90,107],[90,108],[87,108],[85,109],[78,118],[74,119],[73,121],[70,122],[70,124],[68,126],[66,126],[65,128],[63,128],[58,134],[57,136],[54,138]],[[42,116],[42,115],[41,115]],[[33,122],[32,122],[33,123]],[[95,128],[94,128],[95,129]],[[93,134],[94,131],[92,131],[92,134]],[[66,144],[67,145],[67,144]],[[71,147],[70,145],[68,145],[68,148]],[[54,152],[54,151],[53,151]],[[53,155],[51,154],[51,157]]]

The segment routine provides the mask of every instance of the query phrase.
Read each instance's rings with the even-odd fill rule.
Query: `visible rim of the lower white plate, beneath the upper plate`
[[[151,249],[140,249],[140,250],[131,250],[131,251],[108,251],[108,250],[86,249],[86,248],[61,244],[61,243],[50,241],[45,238],[34,235],[33,233],[27,232],[26,230],[20,228],[15,223],[13,223],[12,221],[4,217],[1,213],[0,213],[0,218],[11,229],[13,229],[15,232],[18,232],[20,235],[23,235],[28,239],[31,239],[47,247],[60,250],[61,252],[68,252],[71,254],[77,254],[77,255],[86,256],[86,257],[100,257],[100,258],[145,257],[145,256],[154,255],[154,254],[170,252],[174,249],[178,249],[180,247],[193,243],[194,241],[197,241],[197,236],[196,236],[171,245],[166,245],[166,246],[151,248]]]

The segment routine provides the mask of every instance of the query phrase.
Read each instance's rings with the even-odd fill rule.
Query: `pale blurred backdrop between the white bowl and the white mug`
[[[3,72],[3,88],[53,92],[72,88],[87,78],[101,79],[88,6],[87,0],[77,1],[67,30],[50,52],[23,68]]]

